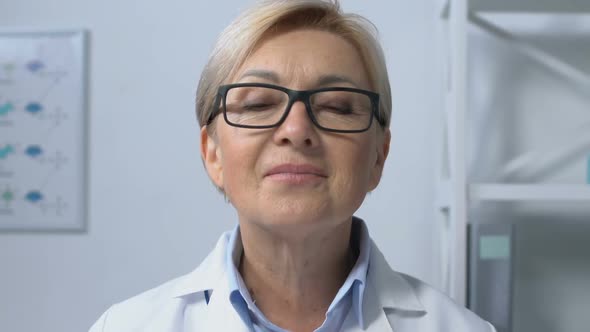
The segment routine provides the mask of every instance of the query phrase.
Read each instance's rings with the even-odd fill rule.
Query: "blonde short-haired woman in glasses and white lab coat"
[[[371,25],[331,2],[265,2],[234,21],[197,116],[205,167],[239,225],[195,271],[91,331],[493,331],[392,271],[353,217],[389,150],[385,68]]]

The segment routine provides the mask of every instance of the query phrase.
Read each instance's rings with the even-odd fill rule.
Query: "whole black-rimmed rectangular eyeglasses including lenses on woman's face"
[[[297,91],[265,83],[237,83],[219,87],[207,124],[223,112],[225,122],[240,128],[278,127],[296,101],[305,104],[307,114],[318,128],[339,133],[368,130],[373,117],[385,126],[379,115],[379,94],[345,87]]]

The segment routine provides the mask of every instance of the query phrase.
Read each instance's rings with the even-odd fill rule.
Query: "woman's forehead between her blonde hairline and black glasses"
[[[352,43],[331,32],[305,29],[265,36],[232,81],[268,81],[308,89],[323,84],[325,77],[369,88],[364,62]]]

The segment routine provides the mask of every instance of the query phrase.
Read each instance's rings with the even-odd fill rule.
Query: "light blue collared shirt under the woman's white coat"
[[[330,304],[324,323],[315,332],[339,331],[350,310],[354,310],[359,326],[364,326],[362,305],[369,269],[371,244],[365,222],[356,217],[352,219],[350,245],[353,250],[358,252],[356,263]],[[230,236],[226,256],[230,286],[229,300],[232,306],[251,331],[286,332],[286,330],[270,322],[258,309],[255,302],[252,301],[248,288],[237,269],[243,250],[240,226],[237,225]]]

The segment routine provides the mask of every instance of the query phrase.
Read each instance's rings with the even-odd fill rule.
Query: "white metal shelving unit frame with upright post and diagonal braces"
[[[578,70],[559,57],[519,39],[510,31],[487,21],[488,13],[519,14],[588,14],[588,0],[441,0],[439,33],[444,68],[444,112],[439,115],[440,131],[437,163],[437,194],[435,214],[441,236],[440,274],[444,290],[458,303],[466,304],[467,295],[467,226],[469,207],[473,202],[588,202],[590,185],[584,184],[513,184],[489,179],[489,183],[469,183],[467,169],[466,137],[469,112],[468,94],[468,32],[470,25],[478,27],[490,36],[544,68],[590,91],[590,75]],[[588,146],[588,135],[577,142],[568,142],[570,148]],[[557,151],[567,147],[558,146]],[[571,151],[575,149],[571,148]],[[567,151],[566,151],[567,152]],[[534,153],[522,154],[508,161],[499,173],[526,169],[533,163]],[[554,153],[553,159],[564,158]],[[538,160],[537,160],[538,161]],[[546,162],[543,160],[543,162]],[[539,164],[539,163],[537,163]],[[590,218],[589,218],[590,220]]]

